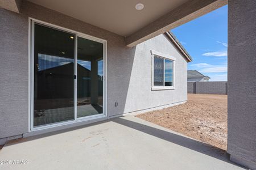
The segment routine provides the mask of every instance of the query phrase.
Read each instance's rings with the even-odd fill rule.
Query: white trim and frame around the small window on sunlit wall
[[[159,53],[156,52],[155,50],[151,50],[151,90],[174,90],[175,89],[175,57],[172,57],[170,55],[167,54],[163,54],[163,53]],[[154,86],[154,57],[159,57],[159,58],[163,58],[163,59],[169,59],[172,61],[172,86]],[[164,65],[163,65],[163,70],[164,70]],[[163,80],[164,80],[164,74],[163,74]]]

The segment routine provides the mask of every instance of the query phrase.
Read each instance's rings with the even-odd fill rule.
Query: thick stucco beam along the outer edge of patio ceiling
[[[146,27],[127,36],[126,45],[135,46],[227,4],[228,0],[189,0]]]

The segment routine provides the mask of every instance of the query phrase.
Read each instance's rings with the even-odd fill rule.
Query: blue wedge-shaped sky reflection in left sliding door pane
[[[63,66],[71,62],[74,62],[74,59],[59,57],[59,56],[50,56],[47,54],[40,54],[40,53],[38,54],[38,65],[39,65],[38,70],[39,71],[51,69],[57,66]]]

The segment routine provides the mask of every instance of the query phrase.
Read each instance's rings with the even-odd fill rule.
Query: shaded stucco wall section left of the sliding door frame
[[[27,22],[0,8],[0,138],[28,130]]]

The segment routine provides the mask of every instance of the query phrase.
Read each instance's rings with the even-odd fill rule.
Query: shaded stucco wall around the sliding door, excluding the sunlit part
[[[126,99],[127,74],[133,64],[130,56],[135,48],[127,48],[124,37],[27,1],[23,1],[21,12],[0,8],[0,138],[28,132],[28,16],[107,40],[108,90],[118,89],[117,93],[108,92],[108,104],[114,104],[115,96]],[[117,77],[122,80],[117,82]],[[115,110],[108,108],[108,113],[118,114],[124,105],[119,104]]]

